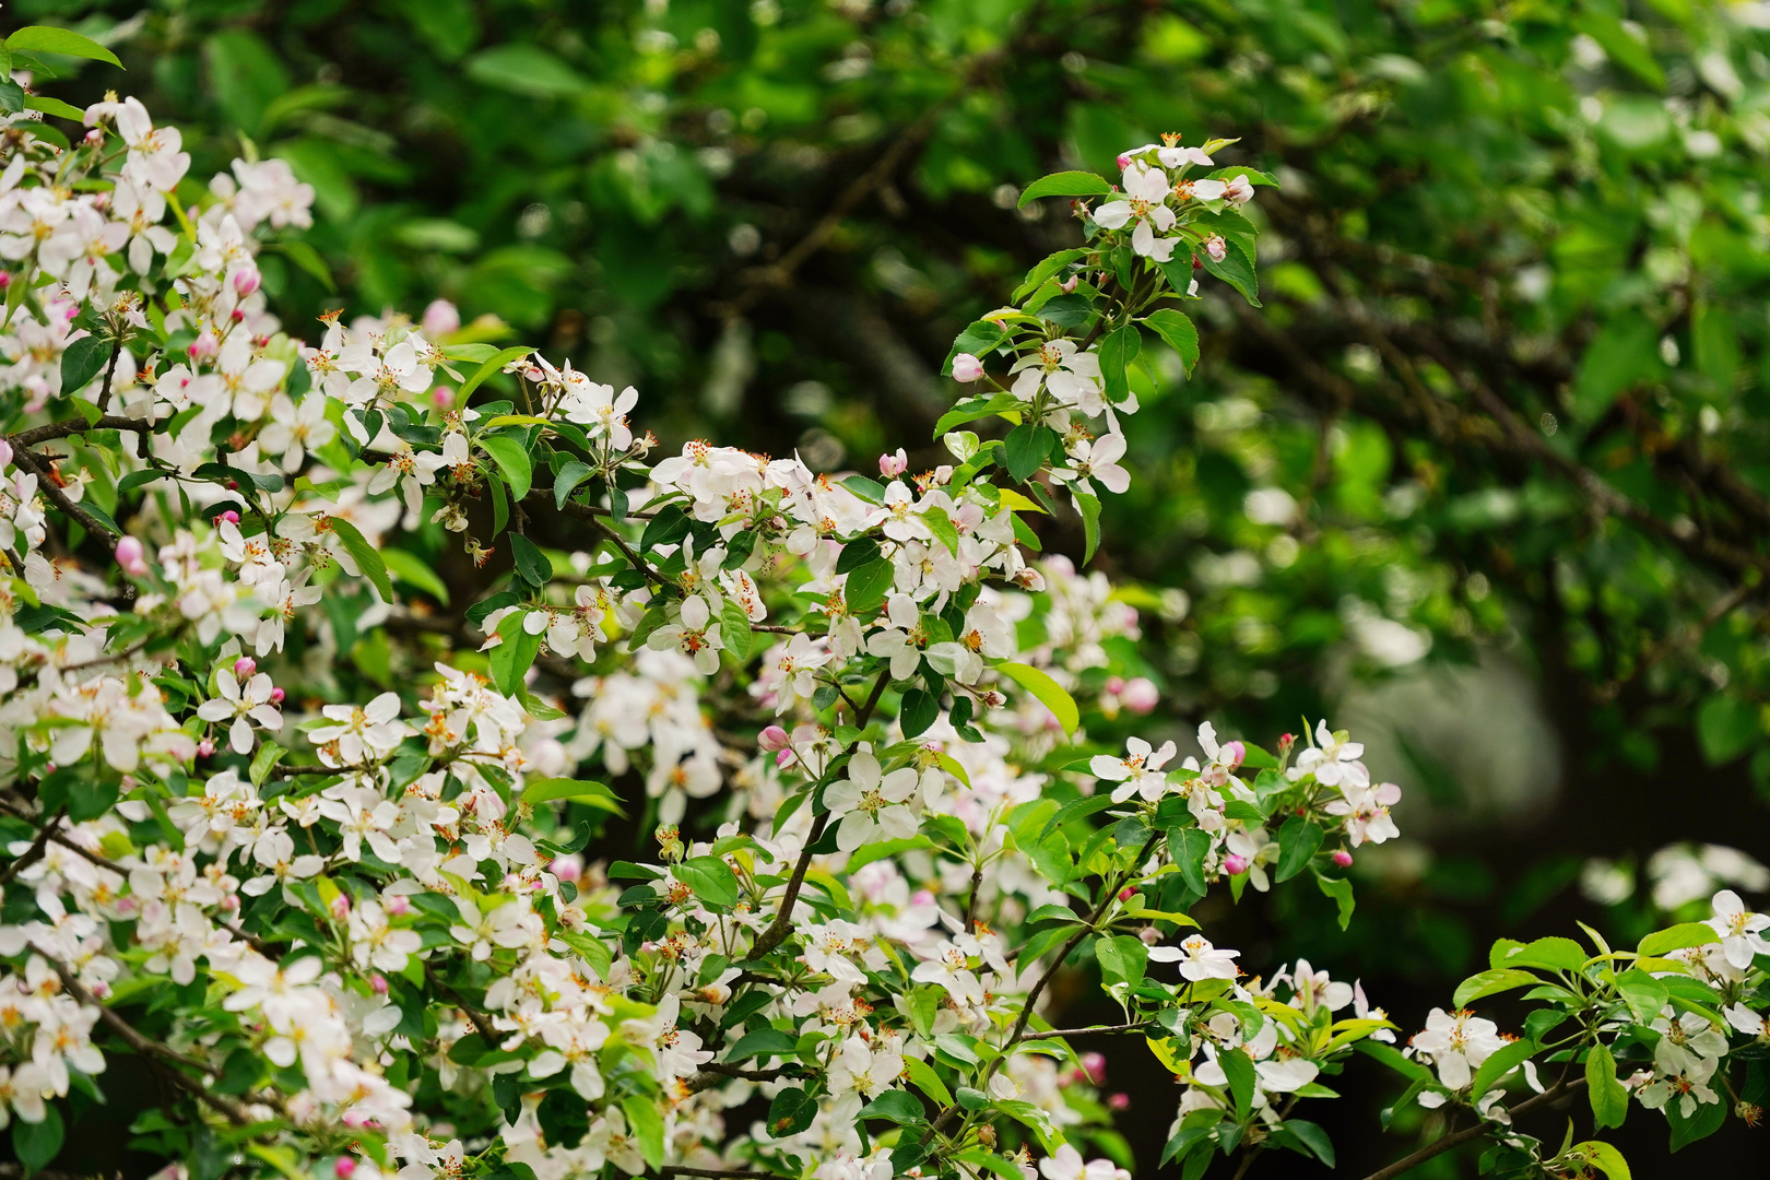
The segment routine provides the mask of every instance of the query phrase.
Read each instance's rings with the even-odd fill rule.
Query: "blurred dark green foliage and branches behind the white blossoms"
[[[1126,658],[1163,701],[1117,727],[1271,748],[1328,716],[1407,796],[1351,932],[1292,886],[1200,915],[1212,936],[1361,977],[1412,1030],[1499,934],[1632,939],[1722,883],[1763,900],[1770,5],[12,0],[23,23],[127,67],[42,92],[126,88],[193,175],[257,152],[315,186],[306,244],[262,260],[292,333],[446,297],[635,384],[667,448],[830,471],[945,458],[952,336],[1078,241],[1021,186],[1239,136],[1218,163],[1283,186],[1248,211],[1266,306],[1211,285],[1197,372],[1158,352],[1133,377],[1136,481],[1094,568],[1140,607]],[[1080,524],[1043,541],[1080,557]],[[1076,980],[1064,1023],[1112,1019],[1097,994]],[[1172,1086],[1096,1047],[1156,1175]],[[1428,1129],[1379,1129],[1368,1065],[1313,1115],[1354,1176]],[[1618,1143],[1641,1176],[1745,1176],[1765,1136],[1667,1159],[1635,1109]]]

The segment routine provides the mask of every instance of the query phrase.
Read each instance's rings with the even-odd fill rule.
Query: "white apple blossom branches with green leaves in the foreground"
[[[1354,1054],[1473,1111],[1420,1157],[1485,1134],[1501,1175],[1627,1175],[1513,1129],[1572,1090],[1598,1129],[1630,1100],[1674,1139],[1758,1118],[1731,1065],[1765,1044],[1770,918],[1738,895],[1634,950],[1501,941],[1402,1042],[1359,984],[1189,916],[1308,877],[1352,920],[1343,869],[1400,798],[1358,741],[1087,752],[1078,695],[1154,704],[1099,674],[1140,616],[1025,518],[1074,511],[1090,559],[1131,366],[1197,361],[1200,285],[1257,301],[1243,209],[1274,179],[1220,166],[1230,142],[1030,186],[1085,244],[954,343],[979,391],[936,430],[952,462],[874,479],[653,458],[634,389],[446,304],[304,343],[258,269],[310,223],[287,165],[186,205],[140,103],[32,103],[0,143],[0,1120],[27,1168],[133,1053],[181,1093],[140,1141],[204,1176],[1104,1180],[1112,1104],[1043,1015],[1066,964],[1122,1010],[1087,1031],[1181,1083],[1188,1176],[1331,1161],[1297,1107]],[[508,550],[460,628],[418,536]],[[327,667],[365,640],[386,688],[352,697]],[[331,695],[289,699],[297,672]],[[625,808],[655,856],[586,865]],[[1513,1030],[1467,1008],[1526,987]]]

